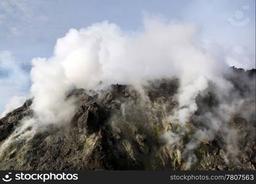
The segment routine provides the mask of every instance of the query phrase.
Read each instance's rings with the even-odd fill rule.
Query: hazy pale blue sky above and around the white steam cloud
[[[56,39],[69,29],[108,20],[133,31],[142,29],[145,15],[193,23],[200,40],[212,52],[224,53],[217,49],[222,45],[241,59],[240,63],[230,59],[231,64],[255,67],[254,0],[0,0],[0,114],[12,96],[28,95],[31,59],[52,56]],[[228,21],[230,18],[235,23],[248,19],[249,23],[236,26]]]

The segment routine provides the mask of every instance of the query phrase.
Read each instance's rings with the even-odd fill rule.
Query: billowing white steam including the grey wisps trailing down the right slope
[[[214,139],[220,129],[228,132],[224,122],[244,104],[239,95],[234,98],[238,101],[228,101],[228,96],[236,93],[233,93],[233,84],[223,77],[227,63],[204,50],[196,39],[194,25],[158,18],[145,18],[143,29],[133,32],[122,31],[107,21],[79,31],[70,29],[66,36],[57,40],[52,57],[32,61],[31,109],[35,116],[33,121],[27,121],[35,126],[69,121],[76,109],[76,99],[67,99],[66,93],[74,87],[99,90],[120,83],[141,90],[149,80],[177,77],[180,81],[178,107],[166,121],[182,129],[178,133],[166,131],[163,134],[166,143],[177,144],[180,135],[187,132],[186,124],[191,118],[203,120],[208,126],[198,128],[185,146],[183,156],[187,156],[188,169],[196,161],[190,150],[202,140]],[[196,116],[196,98],[212,86],[222,105],[214,112]]]

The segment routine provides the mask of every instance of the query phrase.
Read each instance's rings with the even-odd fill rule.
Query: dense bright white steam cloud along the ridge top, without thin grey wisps
[[[221,64],[194,44],[193,25],[146,18],[133,33],[103,21],[85,29],[70,29],[57,40],[51,58],[34,58],[31,70],[32,109],[39,121],[66,121],[74,111],[65,93],[71,88],[97,89],[112,83],[140,84],[177,76],[181,80],[180,123],[196,110],[195,97],[208,78],[220,77]],[[103,82],[99,85],[100,82]]]

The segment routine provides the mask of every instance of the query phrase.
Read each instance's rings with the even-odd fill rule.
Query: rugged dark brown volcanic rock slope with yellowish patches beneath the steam
[[[67,98],[77,99],[69,123],[39,126],[29,138],[22,134],[30,126],[17,131],[33,117],[28,100],[0,120],[0,169],[255,170],[255,69],[231,68],[226,77],[247,100],[220,129],[204,122],[209,112],[219,116],[215,84],[196,98],[198,110],[184,127],[166,118],[177,109],[178,79],[149,82],[143,93],[130,85],[69,91]],[[211,136],[196,139],[200,132]]]

